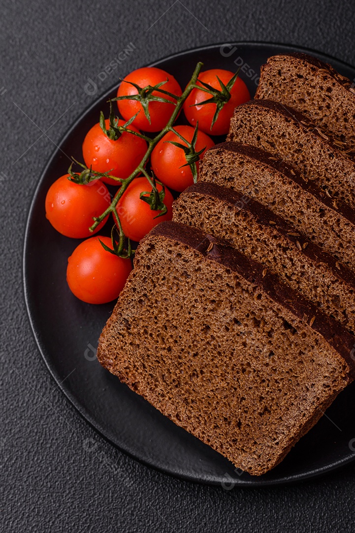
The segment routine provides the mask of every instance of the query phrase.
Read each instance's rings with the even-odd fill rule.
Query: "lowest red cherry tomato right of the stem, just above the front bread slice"
[[[157,183],[157,189],[160,192],[162,185]],[[159,222],[172,219],[173,196],[170,190],[165,188],[165,197],[163,200],[167,207],[167,213],[159,216],[157,219],[154,217],[160,211],[153,211],[144,200],[139,198],[140,193],[143,191],[151,191],[151,185],[147,178],[135,178],[124,191],[116,207],[124,234],[126,237],[136,241],[147,235]]]

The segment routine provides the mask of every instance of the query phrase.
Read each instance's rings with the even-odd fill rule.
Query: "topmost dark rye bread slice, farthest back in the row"
[[[298,52],[273,55],[261,67],[255,98],[284,103],[355,148],[354,84],[328,63]]]

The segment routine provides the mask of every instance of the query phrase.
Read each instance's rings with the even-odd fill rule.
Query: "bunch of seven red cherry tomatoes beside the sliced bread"
[[[200,73],[197,83],[208,84],[221,90],[220,81],[226,86],[232,77],[233,72],[227,70],[207,70]],[[138,94],[139,87],[154,87],[161,82],[164,82],[162,88],[165,92],[172,93],[177,98],[182,95],[179,83],[171,74],[159,68],[145,67],[134,70],[124,78],[117,97],[134,97]],[[199,158],[202,158],[205,151],[214,145],[209,134],[226,134],[234,108],[250,99],[247,86],[240,77],[237,77],[230,88],[230,99],[219,111],[212,125],[216,103],[202,103],[206,101],[207,96],[205,91],[193,88],[183,104],[183,112],[190,125],[174,126],[180,136],[171,131],[167,132],[151,153],[151,170],[156,179],[162,183],[157,182],[156,187],[158,191],[161,191],[163,186],[165,189],[166,213],[161,215],[141,199],[142,192],[151,190],[145,176],[134,178],[119,199],[116,210],[124,235],[129,239],[139,241],[160,221],[171,220],[173,196],[169,188],[181,192],[193,183],[192,170],[181,148],[181,145],[188,145],[181,140],[181,136],[191,143],[198,124],[195,150],[200,152]],[[137,115],[128,126],[130,131],[138,133],[162,131],[176,105],[176,99],[166,93],[164,100],[167,101],[148,103],[150,120],[139,100],[117,100],[119,113],[123,117],[119,119],[118,125],[123,126],[126,121]],[[105,127],[108,130],[108,119],[105,120]],[[112,247],[112,239],[98,236],[88,238],[103,228],[108,216],[94,231],[90,231],[89,228],[93,219],[103,214],[111,205],[112,195],[107,185],[113,191],[113,195],[119,190],[120,181],[115,181],[108,175],[126,179],[138,167],[146,151],[147,142],[141,137],[124,131],[118,139],[110,139],[102,125],[97,123],[83,139],[82,155],[87,168],[106,175],[88,184],[78,184],[71,180],[70,174],[65,174],[48,190],[46,217],[49,222],[62,235],[86,239],[69,257],[66,272],[70,289],[84,302],[99,304],[117,298],[132,269],[129,257],[119,257],[107,251]],[[198,163],[196,166],[198,168]],[[157,217],[159,214],[161,216]]]

